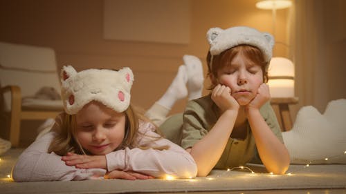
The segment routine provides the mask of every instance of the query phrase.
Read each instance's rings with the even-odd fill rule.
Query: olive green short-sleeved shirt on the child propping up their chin
[[[280,125],[269,102],[260,108],[260,113],[266,124],[283,144]],[[167,139],[180,144],[183,148],[190,148],[209,132],[219,116],[217,105],[212,101],[210,95],[206,95],[189,101],[183,117],[181,114],[173,115],[160,128]],[[181,126],[181,122],[183,122],[183,126]],[[233,168],[244,166],[248,162],[261,162],[250,125],[247,123],[246,126],[247,134],[245,139],[230,137],[215,168]]]

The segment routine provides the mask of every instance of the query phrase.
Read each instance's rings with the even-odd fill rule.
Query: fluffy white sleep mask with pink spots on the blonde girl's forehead
[[[134,75],[130,68],[118,71],[88,69],[76,72],[72,66],[62,68],[62,101],[66,113],[74,115],[90,101],[100,101],[121,113],[129,107]]]

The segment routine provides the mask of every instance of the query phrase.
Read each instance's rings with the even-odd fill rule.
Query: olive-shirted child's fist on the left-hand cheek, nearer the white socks
[[[239,104],[235,98],[230,95],[230,88],[228,86],[224,86],[218,84],[212,90],[212,101],[217,104],[217,106],[221,109],[221,112],[224,113],[226,110],[238,110]]]

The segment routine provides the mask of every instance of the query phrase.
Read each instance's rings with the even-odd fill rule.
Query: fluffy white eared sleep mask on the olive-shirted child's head
[[[259,48],[266,61],[271,60],[275,43],[272,35],[246,26],[237,26],[226,30],[210,28],[207,32],[207,39],[210,44],[211,55],[219,55],[224,50],[246,44]]]

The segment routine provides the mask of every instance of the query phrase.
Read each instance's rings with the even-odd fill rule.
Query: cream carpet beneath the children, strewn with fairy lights
[[[249,166],[233,171],[212,171],[208,177],[192,180],[88,180],[71,182],[10,182],[15,158],[21,153],[12,149],[1,156],[1,193],[159,193],[192,191],[251,191],[303,188],[346,188],[346,165],[292,165],[291,175],[270,175],[263,166]]]

